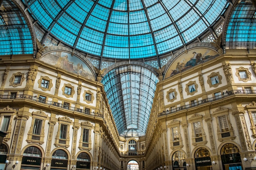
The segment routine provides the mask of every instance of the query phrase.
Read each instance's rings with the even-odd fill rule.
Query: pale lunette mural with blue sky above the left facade
[[[40,60],[58,68],[62,68],[68,72],[86,77],[87,79],[95,79],[87,64],[76,56],[72,57],[70,53],[55,51],[46,54],[41,57]]]

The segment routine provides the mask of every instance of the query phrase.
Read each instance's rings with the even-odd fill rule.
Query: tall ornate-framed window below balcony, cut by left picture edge
[[[11,124],[15,113],[16,110],[9,106],[0,109],[0,129],[2,132],[7,133],[3,139],[4,141],[9,141],[11,138]]]

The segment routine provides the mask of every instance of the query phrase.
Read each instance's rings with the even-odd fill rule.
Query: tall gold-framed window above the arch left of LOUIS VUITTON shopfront
[[[182,138],[180,135],[180,121],[173,119],[168,125],[171,131],[171,149],[182,148]]]

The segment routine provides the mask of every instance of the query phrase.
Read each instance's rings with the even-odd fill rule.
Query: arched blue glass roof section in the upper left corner
[[[33,54],[32,37],[16,4],[4,0],[0,7],[0,55]]]

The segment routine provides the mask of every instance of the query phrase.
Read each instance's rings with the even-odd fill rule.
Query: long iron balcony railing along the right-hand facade
[[[163,116],[163,115],[169,115],[171,113],[175,113],[175,112],[178,112],[180,110],[185,110],[185,109],[188,109],[188,108],[193,108],[193,107],[199,106],[201,104],[213,102],[213,101],[216,101],[216,100],[219,100],[219,99],[223,99],[225,97],[228,97],[228,96],[231,96],[231,95],[236,95],[236,94],[246,94],[246,95],[256,94],[256,90],[233,90],[233,91],[227,91],[225,93],[222,93],[222,95],[218,95],[218,96],[202,99],[202,100],[199,100],[198,102],[194,102],[194,103],[187,104],[187,105],[184,105],[184,106],[180,106],[180,107],[168,110],[168,111],[164,111],[162,113],[159,113],[158,117]]]

